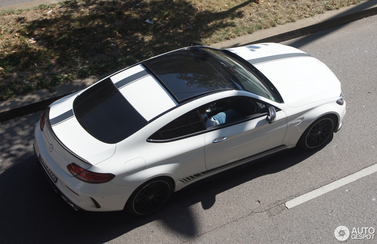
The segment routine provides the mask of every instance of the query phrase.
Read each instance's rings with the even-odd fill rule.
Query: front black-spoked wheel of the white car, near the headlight
[[[311,151],[323,145],[334,133],[334,117],[325,115],[314,121],[302,133],[298,142],[304,150]]]

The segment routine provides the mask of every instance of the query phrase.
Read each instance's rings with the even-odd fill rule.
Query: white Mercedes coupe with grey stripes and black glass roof
[[[290,46],[191,46],[52,103],[35,154],[75,209],[149,215],[208,176],[325,145],[342,126],[342,96],[325,64]]]

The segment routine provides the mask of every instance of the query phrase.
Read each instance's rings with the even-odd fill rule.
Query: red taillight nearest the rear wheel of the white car
[[[109,182],[115,177],[115,175],[111,173],[97,173],[85,170],[83,167],[80,167],[75,163],[67,165],[67,169],[73,176],[75,176],[80,181],[84,181],[91,184]]]

